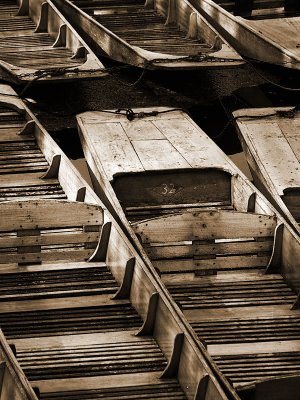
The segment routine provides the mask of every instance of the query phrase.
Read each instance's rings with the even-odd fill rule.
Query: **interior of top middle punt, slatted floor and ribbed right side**
[[[149,52],[196,57],[222,47],[217,33],[186,1],[73,0],[72,3],[131,46]]]

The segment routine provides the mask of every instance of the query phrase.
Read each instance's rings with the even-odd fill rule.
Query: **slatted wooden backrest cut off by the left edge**
[[[101,207],[63,200],[6,202],[0,213],[0,264],[83,261],[103,223]]]

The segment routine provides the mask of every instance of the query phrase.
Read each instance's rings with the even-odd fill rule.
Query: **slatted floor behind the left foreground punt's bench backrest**
[[[57,179],[42,179],[49,168],[32,134],[18,135],[24,117],[0,109],[0,201],[44,198],[65,199]]]

